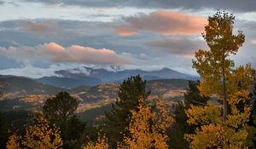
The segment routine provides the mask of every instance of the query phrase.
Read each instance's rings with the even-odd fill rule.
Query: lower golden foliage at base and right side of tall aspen
[[[230,72],[230,75],[232,77],[227,86],[230,112],[225,121],[224,117],[221,117],[222,106],[217,102],[208,102],[207,106],[191,106],[186,111],[188,123],[201,125],[195,130],[195,134],[185,135],[191,148],[247,148],[243,143],[248,135],[246,123],[250,107],[247,105],[247,99],[248,89],[253,84],[253,69],[250,65],[240,66]],[[238,108],[238,105],[243,106]]]

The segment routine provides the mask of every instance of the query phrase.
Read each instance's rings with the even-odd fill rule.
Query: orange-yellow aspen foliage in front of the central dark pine
[[[131,135],[124,137],[124,143],[119,148],[144,149],[168,148],[166,144],[166,128],[172,123],[172,117],[162,107],[160,112],[152,111],[150,106],[145,106],[145,100],[139,100],[138,111],[131,110]]]

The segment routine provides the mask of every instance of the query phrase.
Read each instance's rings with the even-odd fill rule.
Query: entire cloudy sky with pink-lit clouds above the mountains
[[[256,68],[254,0],[0,0],[0,74],[55,76],[83,66],[160,70],[196,75],[195,51],[207,17],[236,16],[246,42],[232,56]]]

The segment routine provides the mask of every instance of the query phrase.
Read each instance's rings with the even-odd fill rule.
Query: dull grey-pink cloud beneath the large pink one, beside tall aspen
[[[166,37],[164,40],[149,41],[145,43],[148,47],[161,50],[170,54],[181,54],[185,57],[194,55],[198,49],[206,49],[207,44],[193,37]]]

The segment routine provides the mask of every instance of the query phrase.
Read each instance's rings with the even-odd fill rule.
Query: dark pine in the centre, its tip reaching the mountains
[[[123,135],[127,135],[126,127],[131,121],[131,110],[138,110],[140,98],[147,98],[150,91],[146,90],[146,81],[137,75],[128,77],[119,87],[118,99],[112,105],[112,110],[106,112],[106,131],[111,146],[116,146],[122,140]]]

